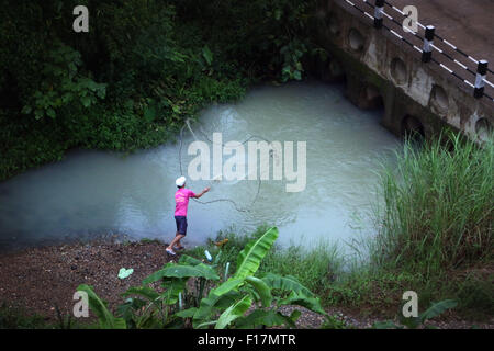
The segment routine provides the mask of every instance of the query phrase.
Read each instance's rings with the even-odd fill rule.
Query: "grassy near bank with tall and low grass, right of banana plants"
[[[363,262],[344,259],[328,245],[274,248],[259,272],[292,274],[321,297],[324,306],[393,317],[405,291],[419,305],[458,302],[456,313],[489,319],[494,314],[492,223],[494,211],[493,144],[479,147],[449,134],[417,147],[405,143],[397,165],[385,166],[375,212],[378,235]],[[234,262],[250,236],[218,234],[221,261]],[[211,241],[211,252],[218,249]],[[190,251],[202,257],[203,248]]]

